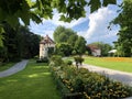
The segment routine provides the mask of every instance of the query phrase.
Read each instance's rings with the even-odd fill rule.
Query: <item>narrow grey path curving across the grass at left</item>
[[[0,77],[7,77],[7,76],[13,75],[13,74],[24,69],[28,62],[29,61],[24,59],[22,62],[16,63],[13,67],[11,67],[7,70],[3,70],[3,72],[0,72]]]

